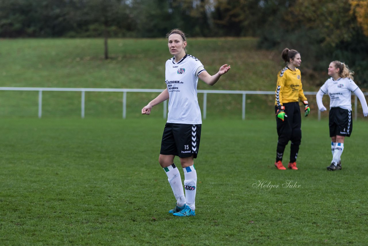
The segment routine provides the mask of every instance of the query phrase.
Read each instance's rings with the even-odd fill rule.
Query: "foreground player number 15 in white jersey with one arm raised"
[[[163,131],[159,163],[166,171],[169,184],[176,198],[176,206],[169,211],[175,216],[194,216],[197,172],[194,158],[197,158],[201,138],[202,117],[198,105],[198,78],[210,86],[227,73],[230,66],[220,67],[215,75],[209,75],[202,63],[185,52],[187,39],[183,31],[174,29],[167,35],[168,46],[173,58],[166,61],[166,89],[142,108],[142,114],[149,115],[152,107],[169,99],[169,114]],[[184,170],[184,188],[174,157],[179,156]]]

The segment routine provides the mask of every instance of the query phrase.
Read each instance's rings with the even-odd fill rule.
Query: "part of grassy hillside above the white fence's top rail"
[[[273,54],[255,51],[255,43],[190,39],[187,52],[209,73],[224,63],[232,66],[216,89],[273,89],[280,59],[277,64]],[[3,86],[164,88],[164,64],[171,58],[166,39],[110,39],[109,60],[103,59],[102,39],[6,39],[1,47]]]

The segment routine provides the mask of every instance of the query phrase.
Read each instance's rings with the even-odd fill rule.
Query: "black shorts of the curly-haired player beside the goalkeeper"
[[[330,137],[336,135],[349,137],[353,131],[351,110],[339,107],[331,108],[329,112],[328,124],[330,127]]]

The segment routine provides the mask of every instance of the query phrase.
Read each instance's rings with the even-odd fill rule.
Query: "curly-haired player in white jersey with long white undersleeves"
[[[344,150],[345,136],[350,136],[353,131],[351,119],[351,91],[359,98],[362,104],[364,117],[368,115],[367,101],[364,94],[353,81],[354,72],[347,65],[338,60],[330,63],[328,75],[331,76],[321,86],[316,95],[317,105],[320,111],[326,111],[322,103],[324,94],[330,96],[329,127],[331,137],[332,162],[327,170],[341,169],[341,154]]]

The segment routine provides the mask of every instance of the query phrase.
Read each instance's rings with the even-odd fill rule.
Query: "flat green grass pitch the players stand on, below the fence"
[[[1,119],[0,245],[367,244],[366,121],[331,172],[325,120],[303,119],[298,171],[273,166],[273,118],[205,120],[197,215],[176,218],[150,117]]]

